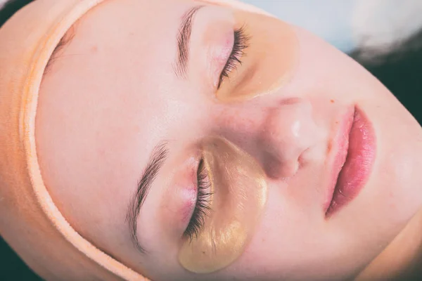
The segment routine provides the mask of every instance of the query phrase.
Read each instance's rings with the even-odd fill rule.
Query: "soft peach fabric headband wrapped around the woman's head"
[[[34,124],[46,64],[65,32],[103,0],[36,0],[0,29],[0,234],[47,280],[146,280],[66,221],[39,169]],[[214,4],[262,11],[236,0]]]

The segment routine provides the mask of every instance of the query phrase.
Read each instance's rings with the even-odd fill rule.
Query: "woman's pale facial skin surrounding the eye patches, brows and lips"
[[[215,73],[224,63],[218,63],[221,54],[205,50],[221,51],[224,36],[233,36],[229,8],[198,11],[186,77],[174,73],[181,18],[198,4],[108,0],[75,25],[43,79],[36,120],[41,171],[65,218],[96,247],[152,280],[350,280],[359,273],[371,280],[392,275],[394,265],[409,266],[420,241],[407,244],[399,261],[388,250],[408,241],[399,236],[393,242],[399,233],[422,232],[420,223],[407,226],[422,208],[421,126],[371,74],[298,27],[290,27],[298,60],[286,83],[266,95],[221,102]],[[221,28],[206,32],[213,26]],[[286,48],[283,41],[271,44]],[[262,54],[249,55],[262,60]],[[259,71],[268,77],[276,67]],[[230,75],[223,87],[234,81]],[[376,160],[357,198],[326,218],[328,148],[352,105],[373,125]],[[195,189],[200,143],[210,136],[255,159],[268,196],[241,254],[203,274],[186,270],[178,256],[191,214],[186,190]],[[167,159],[137,218],[142,253],[131,240],[127,207],[163,141]]]

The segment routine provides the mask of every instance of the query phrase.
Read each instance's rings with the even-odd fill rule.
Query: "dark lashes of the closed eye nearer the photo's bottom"
[[[198,181],[198,193],[196,198],[195,209],[191,216],[191,221],[189,221],[188,226],[184,232],[185,237],[188,237],[190,240],[193,237],[198,237],[200,231],[203,229],[205,223],[205,217],[211,211],[210,207],[210,197],[212,195],[210,190],[210,181],[208,179],[208,173],[205,169],[203,159],[200,160],[198,164],[197,181]]]

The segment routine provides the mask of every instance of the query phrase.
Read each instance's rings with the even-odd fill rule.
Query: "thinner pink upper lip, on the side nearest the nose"
[[[328,178],[328,189],[324,201],[324,214],[330,207],[333,200],[335,185],[338,181],[338,175],[343,169],[347,158],[347,150],[349,148],[350,130],[354,121],[355,107],[347,110],[343,118],[340,120],[339,129],[336,131],[335,136],[331,139],[332,157],[331,157],[331,173]]]

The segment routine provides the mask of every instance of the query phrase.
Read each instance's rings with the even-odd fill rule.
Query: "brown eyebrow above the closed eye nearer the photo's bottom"
[[[155,146],[149,158],[148,164],[143,171],[141,179],[138,182],[138,188],[129,200],[129,206],[127,208],[126,221],[129,225],[131,240],[135,247],[143,254],[146,253],[146,249],[141,245],[141,242],[138,240],[136,235],[138,228],[137,218],[139,217],[139,212],[141,211],[141,207],[146,200],[149,190],[151,189],[153,181],[157,177],[165,159],[167,159],[167,155],[167,142],[161,142]]]

